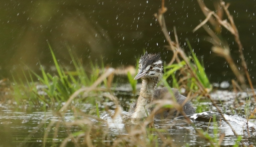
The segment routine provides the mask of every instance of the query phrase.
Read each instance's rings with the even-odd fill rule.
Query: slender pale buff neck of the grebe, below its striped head
[[[150,114],[150,107],[148,104],[152,102],[158,82],[158,79],[145,77],[142,79],[140,96],[137,100],[137,105],[134,113],[132,114],[132,118],[143,118],[147,117],[147,113]]]

